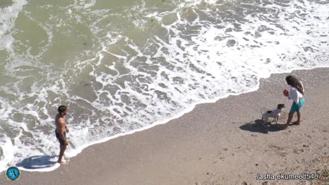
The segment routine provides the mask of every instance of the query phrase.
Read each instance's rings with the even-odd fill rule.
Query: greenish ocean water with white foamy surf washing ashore
[[[261,77],[329,66],[326,0],[0,1],[0,171],[166,123]]]

